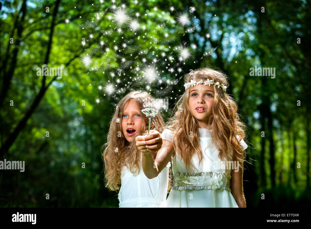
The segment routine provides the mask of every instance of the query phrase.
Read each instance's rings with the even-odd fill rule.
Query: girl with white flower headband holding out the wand
[[[245,124],[239,120],[236,102],[225,92],[227,80],[225,74],[209,68],[187,74],[185,92],[161,135],[155,166],[150,154],[143,155],[144,173],[150,179],[172,159],[174,181],[166,207],[246,207]]]

